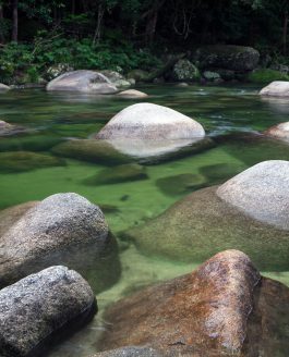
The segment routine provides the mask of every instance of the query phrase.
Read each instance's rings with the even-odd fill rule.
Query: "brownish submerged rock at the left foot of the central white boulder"
[[[52,148],[52,152],[71,159],[101,164],[127,163],[130,158],[106,140],[73,139]]]

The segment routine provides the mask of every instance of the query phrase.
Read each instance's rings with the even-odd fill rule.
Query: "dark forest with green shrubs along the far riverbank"
[[[0,76],[36,81],[56,64],[149,70],[207,44],[288,64],[288,0],[0,0]]]

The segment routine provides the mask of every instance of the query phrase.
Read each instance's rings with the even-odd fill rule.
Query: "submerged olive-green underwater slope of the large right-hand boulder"
[[[257,182],[255,182],[257,186]],[[218,186],[198,189],[160,216],[123,232],[149,256],[202,262],[225,249],[248,254],[258,269],[289,269],[289,232],[253,220],[216,195]],[[277,200],[272,197],[272,201]]]

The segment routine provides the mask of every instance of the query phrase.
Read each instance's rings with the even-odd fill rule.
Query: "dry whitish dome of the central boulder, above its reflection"
[[[203,126],[176,110],[153,103],[130,106],[115,115],[95,136],[98,139],[203,138]]]

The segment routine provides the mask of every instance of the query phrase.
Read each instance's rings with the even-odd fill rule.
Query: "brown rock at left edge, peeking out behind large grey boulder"
[[[37,201],[29,201],[0,211],[0,237],[36,204]]]

